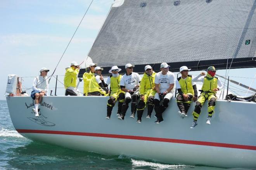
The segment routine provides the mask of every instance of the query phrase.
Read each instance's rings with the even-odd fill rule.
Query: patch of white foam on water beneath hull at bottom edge
[[[161,163],[153,163],[153,162],[147,162],[147,161],[139,161],[139,160],[133,160],[132,166],[135,167],[151,167],[156,170],[163,170],[163,169],[183,169],[183,168],[191,168],[194,166],[191,165],[167,165],[167,164],[161,164]]]

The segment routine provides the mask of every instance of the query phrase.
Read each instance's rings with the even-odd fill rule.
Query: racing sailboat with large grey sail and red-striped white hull
[[[144,72],[148,64],[159,70],[162,62],[173,72],[183,65],[193,70],[256,67],[255,8],[256,0],[115,0],[88,56],[104,70],[113,65],[125,70],[127,63],[136,65],[135,72]],[[7,103],[17,132],[34,141],[165,163],[256,168],[256,103],[219,99],[212,124],[201,114],[190,129],[192,115],[181,119],[175,98],[158,125],[145,114],[141,124],[120,121],[117,106],[106,120],[107,99],[44,96],[38,118],[29,96],[7,96]]]

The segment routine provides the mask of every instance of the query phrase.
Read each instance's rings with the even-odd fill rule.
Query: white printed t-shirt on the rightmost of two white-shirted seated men
[[[155,84],[159,84],[159,89],[161,93],[164,93],[169,87],[170,84],[175,83],[175,76],[173,72],[168,71],[165,75],[162,72],[156,74]],[[171,90],[174,93],[174,89]]]

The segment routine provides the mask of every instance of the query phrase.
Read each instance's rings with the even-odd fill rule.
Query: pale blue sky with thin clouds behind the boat
[[[56,67],[91,0],[1,0],[0,4],[0,100],[5,100],[8,74],[22,78],[23,89],[31,88],[42,67]],[[72,61],[83,62],[99,32],[113,0],[94,0],[55,75],[57,94],[64,94],[63,75]],[[192,72],[199,74],[199,72]],[[225,75],[225,70],[218,71]],[[61,76],[62,75],[62,76]],[[230,70],[231,79],[256,88],[256,68]],[[83,83],[80,84],[82,89]],[[50,82],[54,91],[55,79]],[[243,89],[243,88],[240,88]],[[248,95],[247,95],[248,96]]]

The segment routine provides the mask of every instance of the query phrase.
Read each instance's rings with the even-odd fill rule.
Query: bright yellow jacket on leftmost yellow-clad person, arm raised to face
[[[68,87],[76,87],[76,77],[79,73],[78,69],[73,69],[72,67],[66,69],[65,77],[64,77],[64,86]]]

